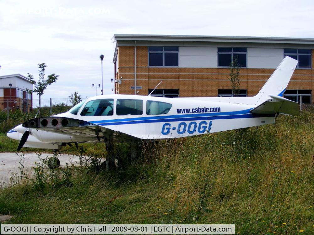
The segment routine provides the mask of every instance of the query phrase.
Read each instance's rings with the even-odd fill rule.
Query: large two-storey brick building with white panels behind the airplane
[[[241,64],[239,96],[254,96],[284,56],[299,60],[284,97],[313,103],[314,39],[115,34],[115,93],[231,96],[229,64]],[[135,60],[136,58],[136,60]]]

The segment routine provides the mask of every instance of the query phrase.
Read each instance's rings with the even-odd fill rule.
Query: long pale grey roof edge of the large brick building
[[[288,38],[288,37],[253,37],[253,36],[206,36],[206,35],[166,35],[166,34],[114,34],[114,40],[160,40],[160,39],[176,39],[176,40],[261,40],[267,41],[311,41],[314,44],[314,38]]]

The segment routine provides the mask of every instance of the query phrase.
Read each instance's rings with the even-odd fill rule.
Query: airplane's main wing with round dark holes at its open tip
[[[36,128],[42,131],[65,134],[70,136],[97,137],[113,135],[114,139],[123,138],[126,140],[138,139],[135,136],[122,133],[110,128],[89,123],[83,120],[64,117],[43,117],[30,119],[23,123],[25,128]]]

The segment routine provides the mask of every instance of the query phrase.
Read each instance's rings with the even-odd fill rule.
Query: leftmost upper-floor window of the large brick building
[[[179,66],[179,47],[149,46],[149,66]]]

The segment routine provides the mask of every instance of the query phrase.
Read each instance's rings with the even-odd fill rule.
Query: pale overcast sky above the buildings
[[[103,54],[104,94],[111,94],[113,34],[314,38],[313,23],[313,0],[0,0],[0,76],[37,80],[37,64],[46,63],[46,75],[60,76],[43,98],[91,97]]]

